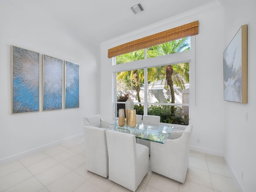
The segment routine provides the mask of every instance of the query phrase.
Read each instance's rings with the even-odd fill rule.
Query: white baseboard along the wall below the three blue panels
[[[0,166],[4,165],[4,164],[8,164],[8,163],[13,162],[13,161],[16,161],[18,159],[25,158],[29,155],[32,155],[32,154],[50,149],[52,147],[56,147],[58,145],[66,143],[66,142],[81,138],[83,136],[84,136],[84,134],[81,133],[81,134],[78,134],[78,135],[75,135],[75,136],[71,136],[69,138],[65,138],[63,140],[52,142],[52,143],[49,143],[49,144],[46,144],[46,145],[43,145],[43,146],[40,146],[40,147],[37,147],[37,148],[33,148],[31,150],[27,150],[27,151],[24,151],[24,152],[21,152],[21,153],[18,153],[18,154],[15,154],[15,155],[12,155],[12,156],[9,156],[9,157],[6,157],[6,158],[2,158],[2,159],[0,159]]]

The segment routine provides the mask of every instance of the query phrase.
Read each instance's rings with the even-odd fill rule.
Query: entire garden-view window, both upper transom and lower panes
[[[190,50],[189,37],[117,56],[116,64],[186,50]],[[189,63],[155,66],[116,73],[116,117],[125,101],[132,99],[137,114],[158,115],[162,123],[188,125]]]

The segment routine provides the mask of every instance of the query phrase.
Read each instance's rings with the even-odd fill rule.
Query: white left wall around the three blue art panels
[[[100,45],[35,13],[0,2],[0,164],[82,136],[82,118],[100,112]],[[40,112],[11,114],[11,45],[40,53]],[[80,64],[80,108],[41,111],[42,54]]]

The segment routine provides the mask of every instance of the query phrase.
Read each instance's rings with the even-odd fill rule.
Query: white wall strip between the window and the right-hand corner
[[[196,105],[191,105],[191,149],[218,156],[223,155],[222,16],[223,8],[197,16]]]

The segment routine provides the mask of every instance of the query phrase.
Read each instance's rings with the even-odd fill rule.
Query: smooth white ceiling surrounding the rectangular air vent
[[[104,42],[216,0],[1,0],[65,26],[81,40]],[[224,3],[225,0],[219,0]],[[144,11],[131,7],[141,3]]]

